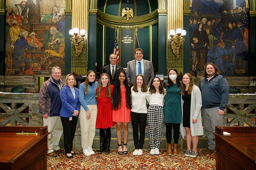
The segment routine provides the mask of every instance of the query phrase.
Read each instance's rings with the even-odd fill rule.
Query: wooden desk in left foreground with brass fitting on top
[[[0,126],[0,169],[46,170],[48,134],[47,127]]]

